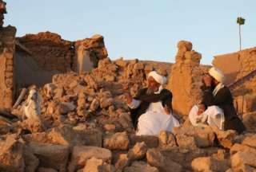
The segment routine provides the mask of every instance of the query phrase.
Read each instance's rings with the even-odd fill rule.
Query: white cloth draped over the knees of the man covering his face
[[[218,106],[210,106],[201,115],[198,115],[198,106],[195,105],[189,114],[190,122],[193,126],[198,126],[200,123],[208,123],[209,125],[217,126],[220,130],[224,129],[224,112]]]

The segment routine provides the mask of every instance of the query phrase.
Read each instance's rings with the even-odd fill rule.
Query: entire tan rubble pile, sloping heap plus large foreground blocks
[[[123,86],[146,86],[153,67],[105,58],[92,72],[57,74],[38,88],[42,126],[2,123],[0,169],[6,171],[253,171],[256,134],[183,123],[173,132],[134,135]],[[135,85],[135,86],[134,86]],[[34,89],[31,87],[29,89]],[[5,127],[3,127],[5,126]]]

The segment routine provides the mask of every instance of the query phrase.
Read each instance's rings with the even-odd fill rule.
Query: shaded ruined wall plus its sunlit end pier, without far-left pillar
[[[90,71],[107,57],[103,37],[66,41],[56,33],[27,34],[17,38],[16,73],[19,87],[49,83],[57,73]]]

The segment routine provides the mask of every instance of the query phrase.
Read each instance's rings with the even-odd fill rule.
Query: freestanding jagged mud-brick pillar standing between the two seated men
[[[191,42],[178,42],[176,62],[172,66],[167,88],[173,93],[173,108],[179,115],[188,115],[190,108],[200,100],[201,57],[200,53],[192,50]]]

